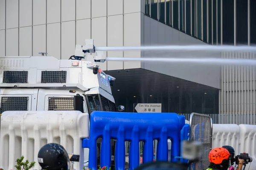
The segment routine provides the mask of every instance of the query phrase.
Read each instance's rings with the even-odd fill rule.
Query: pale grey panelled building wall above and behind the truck
[[[76,44],[139,46],[143,0],[0,0],[0,55],[39,52],[58,59]],[[140,57],[139,51],[110,51],[107,57]],[[140,68],[140,62],[105,62],[103,70]]]

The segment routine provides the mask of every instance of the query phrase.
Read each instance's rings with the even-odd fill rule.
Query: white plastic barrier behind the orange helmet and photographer
[[[248,153],[253,161],[245,170],[256,170],[256,125],[213,124],[212,148],[232,146],[236,155]]]

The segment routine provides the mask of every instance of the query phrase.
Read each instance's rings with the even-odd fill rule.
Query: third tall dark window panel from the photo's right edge
[[[234,0],[222,0],[222,43],[234,45]]]

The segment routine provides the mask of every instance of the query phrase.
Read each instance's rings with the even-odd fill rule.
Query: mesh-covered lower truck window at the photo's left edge
[[[29,97],[1,97],[1,113],[4,111],[27,111]]]

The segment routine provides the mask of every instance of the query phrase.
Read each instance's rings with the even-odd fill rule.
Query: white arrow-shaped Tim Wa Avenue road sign
[[[135,113],[161,113],[162,103],[134,103]]]

